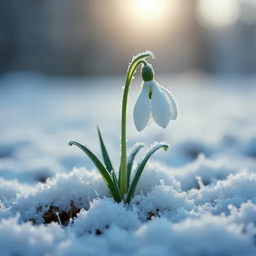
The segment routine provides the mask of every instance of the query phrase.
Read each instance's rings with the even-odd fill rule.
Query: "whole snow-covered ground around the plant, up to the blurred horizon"
[[[156,80],[175,96],[178,119],[136,131],[137,74],[127,145],[171,148],[151,157],[124,205],[104,197],[91,160],[67,146],[78,139],[100,156],[98,124],[117,169],[124,77],[0,77],[0,255],[256,254],[256,77]]]

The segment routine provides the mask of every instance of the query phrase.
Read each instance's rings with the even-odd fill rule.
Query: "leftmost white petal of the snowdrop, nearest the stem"
[[[133,109],[133,120],[138,131],[145,128],[150,116],[148,82],[144,82]]]

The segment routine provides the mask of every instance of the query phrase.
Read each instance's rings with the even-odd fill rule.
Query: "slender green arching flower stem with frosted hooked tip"
[[[121,113],[121,163],[120,163],[120,175],[119,175],[119,184],[120,184],[120,194],[123,197],[124,194],[127,193],[127,155],[126,155],[126,109],[127,109],[127,98],[128,91],[131,79],[133,74],[138,67],[139,64],[143,63],[146,65],[147,63],[143,60],[144,58],[152,56],[152,53],[145,53],[137,56],[131,62],[128,73],[126,76],[125,86],[123,90],[122,96],[122,113]]]

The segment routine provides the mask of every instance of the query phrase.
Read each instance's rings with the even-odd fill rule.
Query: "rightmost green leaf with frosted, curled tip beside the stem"
[[[144,158],[142,159],[142,161],[140,162],[140,164],[138,164],[136,171],[135,171],[135,176],[130,184],[129,190],[128,190],[128,194],[127,194],[127,198],[126,198],[126,202],[129,203],[131,197],[133,197],[138,180],[142,174],[142,171],[146,165],[146,162],[148,161],[148,159],[150,158],[150,156],[159,148],[163,148],[164,150],[167,150],[169,145],[166,142],[155,142],[153,145],[151,145],[151,147],[148,149],[148,151],[145,153]]]

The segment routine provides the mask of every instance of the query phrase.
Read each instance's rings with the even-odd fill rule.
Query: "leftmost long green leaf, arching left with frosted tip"
[[[82,149],[82,151],[84,153],[86,153],[89,156],[89,158],[92,160],[92,162],[95,164],[96,168],[98,169],[99,173],[101,174],[102,178],[106,182],[106,185],[108,186],[114,200],[117,201],[117,195],[116,195],[115,188],[114,188],[114,182],[113,182],[108,170],[102,164],[102,162],[98,159],[98,157],[86,145],[82,145],[77,141],[71,140],[68,142],[68,145],[78,146],[80,149]]]

